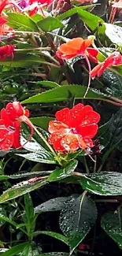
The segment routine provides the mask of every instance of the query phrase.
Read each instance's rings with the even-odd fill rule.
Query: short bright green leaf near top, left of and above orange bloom
[[[63,28],[64,24],[60,20],[54,17],[46,17],[43,20],[40,20],[38,23],[39,28],[45,32],[50,32],[56,28]]]

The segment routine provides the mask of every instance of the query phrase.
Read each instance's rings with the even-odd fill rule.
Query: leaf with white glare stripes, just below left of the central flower
[[[17,154],[18,156],[25,158],[29,161],[37,161],[45,164],[56,164],[57,161],[54,160],[53,154],[47,151],[40,151],[37,153],[28,153],[28,154]]]

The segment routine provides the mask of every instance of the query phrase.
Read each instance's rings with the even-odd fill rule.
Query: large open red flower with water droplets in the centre
[[[48,128],[54,150],[72,152],[93,147],[91,139],[98,132],[100,115],[91,106],[79,103],[72,109],[57,111],[55,117],[57,121],[50,121]]]

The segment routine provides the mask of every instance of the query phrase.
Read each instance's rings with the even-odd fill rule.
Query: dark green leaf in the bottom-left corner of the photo
[[[10,248],[6,252],[2,254],[2,256],[17,256],[20,254],[22,250],[24,250],[24,247],[28,246],[28,242],[26,243],[20,243],[16,245],[15,247]],[[28,255],[27,255],[28,256]]]

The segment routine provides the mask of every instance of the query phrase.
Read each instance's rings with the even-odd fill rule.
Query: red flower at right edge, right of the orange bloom
[[[91,70],[91,77],[102,76],[104,70],[112,65],[121,65],[122,64],[122,56],[119,52],[115,51],[113,54],[109,55],[108,58],[105,59],[102,63],[98,64]]]

